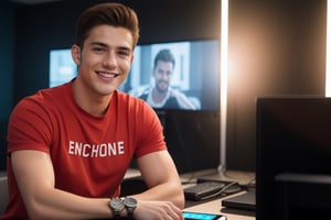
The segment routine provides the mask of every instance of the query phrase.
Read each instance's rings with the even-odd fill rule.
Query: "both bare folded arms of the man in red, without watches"
[[[55,188],[49,154],[22,150],[11,153],[13,173],[30,219],[111,218],[109,198],[86,198]],[[136,219],[182,219],[184,196],[174,164],[167,151],[138,160],[149,189],[132,195],[138,200]],[[122,211],[126,216],[126,210]]]

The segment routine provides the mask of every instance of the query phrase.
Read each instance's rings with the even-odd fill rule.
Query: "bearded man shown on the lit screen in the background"
[[[156,109],[195,109],[184,94],[170,87],[174,64],[170,50],[159,51],[152,70],[154,86],[143,91],[139,98]]]

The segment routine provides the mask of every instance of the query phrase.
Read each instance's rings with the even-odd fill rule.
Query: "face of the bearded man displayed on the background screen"
[[[153,70],[153,76],[156,78],[156,88],[160,92],[168,91],[168,87],[171,81],[173,73],[173,65],[171,62],[159,61]]]

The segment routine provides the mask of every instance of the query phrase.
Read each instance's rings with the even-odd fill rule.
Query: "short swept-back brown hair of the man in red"
[[[90,30],[103,24],[129,30],[134,38],[132,47],[137,45],[139,22],[136,12],[121,3],[115,2],[96,4],[81,14],[76,24],[75,44],[83,48],[84,41],[88,37]]]

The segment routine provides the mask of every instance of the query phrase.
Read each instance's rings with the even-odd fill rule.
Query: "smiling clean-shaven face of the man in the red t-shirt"
[[[75,50],[78,56],[75,57]],[[111,95],[126,79],[132,62],[132,35],[124,28],[98,25],[92,29],[83,51],[72,48],[79,80],[88,94]],[[93,95],[92,95],[93,96]]]

